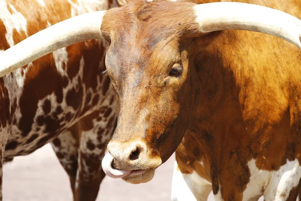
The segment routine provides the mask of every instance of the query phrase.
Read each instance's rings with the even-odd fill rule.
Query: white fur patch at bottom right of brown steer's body
[[[264,195],[264,200],[286,200],[289,192],[296,187],[301,177],[301,168],[297,159],[286,161],[278,171],[259,170],[255,160],[248,162],[251,177],[243,192],[243,200],[258,199]]]

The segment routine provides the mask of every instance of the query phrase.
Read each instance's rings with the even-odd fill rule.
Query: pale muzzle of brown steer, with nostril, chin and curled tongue
[[[108,153],[102,159],[102,169],[111,178],[122,178],[129,183],[145,183],[155,175],[162,164],[143,142],[110,142]]]

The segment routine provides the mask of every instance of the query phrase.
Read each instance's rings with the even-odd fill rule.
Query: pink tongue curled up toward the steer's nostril
[[[118,170],[112,168],[113,156],[110,153],[107,153],[101,162],[102,169],[106,175],[111,178],[122,178],[129,175],[131,170]]]

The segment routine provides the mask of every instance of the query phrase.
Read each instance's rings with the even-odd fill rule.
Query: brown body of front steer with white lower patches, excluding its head
[[[196,3],[208,2],[218,1]],[[301,19],[299,1],[235,2]],[[295,200],[301,177],[301,51],[245,31],[213,33],[201,43],[204,49],[194,59],[200,104],[176,150],[172,200],[187,195],[207,200],[211,190],[216,200],[261,195]]]

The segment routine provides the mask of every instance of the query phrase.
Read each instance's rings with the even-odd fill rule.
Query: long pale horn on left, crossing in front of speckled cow
[[[0,77],[62,47],[102,39],[100,27],[105,12],[91,12],[64,20],[2,52]]]

